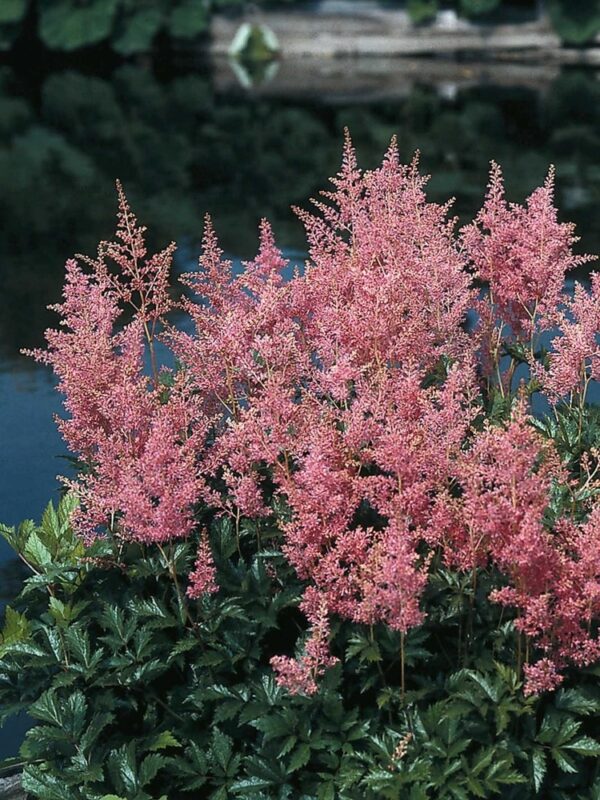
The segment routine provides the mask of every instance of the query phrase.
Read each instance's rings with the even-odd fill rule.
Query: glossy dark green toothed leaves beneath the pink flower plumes
[[[49,506],[2,534],[34,574],[7,608],[2,719],[28,709],[24,784],[43,800],[469,800],[600,791],[594,669],[525,698],[496,576],[435,565],[425,624],[399,634],[338,623],[340,663],[313,697],[268,661],[292,652],[302,585],[271,523],[215,519],[221,590],[182,592],[193,543],[103,541],[85,551]],[[260,546],[259,546],[260,544]],[[178,576],[177,584],[171,571]]]

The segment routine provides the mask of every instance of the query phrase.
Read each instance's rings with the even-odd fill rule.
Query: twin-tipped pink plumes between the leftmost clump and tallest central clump
[[[184,276],[201,300],[184,301],[193,332],[167,335],[212,429],[202,496],[232,515],[265,513],[256,467],[277,459],[296,413],[299,364],[307,356],[298,346],[290,287],[281,279],[286,264],[263,221],[257,258],[234,276],[207,219],[200,270]],[[225,497],[209,486],[223,468]]]

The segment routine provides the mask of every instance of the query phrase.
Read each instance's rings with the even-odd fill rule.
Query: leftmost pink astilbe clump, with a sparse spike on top
[[[69,414],[60,429],[69,449],[87,464],[69,481],[81,500],[74,516],[79,532],[90,539],[108,527],[125,538],[167,541],[192,527],[204,421],[181,381],[165,401],[144,374],[149,324],[169,307],[169,258],[142,263],[143,229],[122,192],[118,236],[121,244],[103,243],[99,258],[86,261],[91,274],[76,261],[67,263],[64,301],[55,307],[61,328],[47,331],[47,350],[33,355],[59,378]],[[109,273],[107,254],[120,273]],[[123,326],[120,303],[134,292],[141,305]]]

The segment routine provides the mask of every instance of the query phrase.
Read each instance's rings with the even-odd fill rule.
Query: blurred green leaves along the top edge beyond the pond
[[[298,0],[257,0],[281,5]],[[597,0],[548,0],[550,18],[565,42],[582,44],[600,31]],[[412,19],[425,23],[443,6],[472,19],[490,14],[512,15],[515,0],[389,0],[406,7]],[[24,30],[33,31],[51,50],[71,52],[107,42],[123,56],[142,53],[164,36],[180,43],[206,34],[214,11],[243,8],[245,0],[2,0],[0,49],[10,48]],[[518,4],[530,13],[535,0]]]

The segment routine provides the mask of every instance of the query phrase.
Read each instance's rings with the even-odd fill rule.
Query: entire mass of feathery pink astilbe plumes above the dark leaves
[[[457,233],[417,166],[392,142],[362,172],[347,138],[333,189],[315,213],[298,212],[309,259],[289,281],[267,222],[235,275],[207,220],[200,269],[183,279],[185,331],[165,321],[173,247],[147,257],[121,193],[119,242],[69,262],[65,329],[35,354],[66,395],[62,432],[86,465],[72,484],[75,521],[88,537],[103,527],[184,537],[199,501],[237,520],[266,516],[268,468],[289,509],[284,555],[307,584],[305,652],[272,661],[291,691],[316,691],[333,663],[330,615],[402,633],[422,622],[425,550],[506,576],[492,599],[517,609],[540,654],[525,668],[530,691],[600,656],[600,507],[549,528],[552,492],[571,482],[525,400],[506,425],[480,424],[481,379],[505,339],[533,353],[534,337],[558,326],[548,363],[532,367],[553,400],[598,378],[600,281],[564,294],[585,259],[557,220],[552,174],[525,206],[508,205],[494,166],[482,211]],[[489,285],[485,299],[474,278]],[[181,364],[168,381],[154,365],[157,326]],[[189,595],[216,589],[203,533]]]

